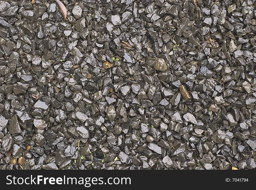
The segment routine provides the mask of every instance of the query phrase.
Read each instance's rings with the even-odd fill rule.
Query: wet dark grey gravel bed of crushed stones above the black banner
[[[255,0],[0,1],[0,169],[255,169]]]

